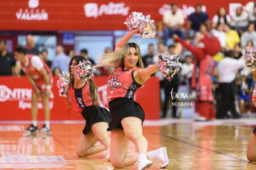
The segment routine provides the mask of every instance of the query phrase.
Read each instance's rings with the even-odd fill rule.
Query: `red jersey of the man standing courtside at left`
[[[31,59],[32,57],[35,56],[35,55],[30,55],[30,54],[27,54],[27,57],[28,57],[28,66],[25,66],[25,64],[22,63],[22,70],[24,72],[26,72],[28,75],[30,75],[30,77],[37,81],[37,80],[43,80],[43,75],[40,73],[39,70],[35,69],[35,67],[32,66],[31,64]],[[40,58],[41,62],[43,62],[43,66],[45,67],[46,69],[46,72],[48,73],[49,75],[49,83],[51,83],[51,80],[53,80],[53,75],[51,74],[51,70],[49,69],[49,67],[47,66],[47,64]]]

